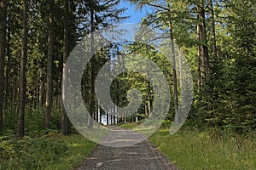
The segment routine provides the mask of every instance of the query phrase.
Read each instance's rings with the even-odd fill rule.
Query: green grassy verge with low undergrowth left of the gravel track
[[[0,138],[0,169],[72,169],[84,160],[96,144],[79,134],[49,133],[23,140]]]

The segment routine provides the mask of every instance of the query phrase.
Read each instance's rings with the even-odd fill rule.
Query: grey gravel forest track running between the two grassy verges
[[[176,170],[177,168],[166,160],[158,150],[154,148],[148,140],[143,140],[138,144],[128,145],[120,141],[130,141],[134,138],[134,133],[118,127],[110,127],[110,133],[106,136],[102,144],[99,144],[89,157],[84,160],[76,170]],[[113,137],[114,136],[114,137]],[[128,137],[127,137],[128,136]],[[126,138],[125,140],[122,140]],[[106,146],[106,143],[113,142],[113,146]],[[105,144],[105,145],[104,145]],[[122,144],[126,146],[122,146]]]

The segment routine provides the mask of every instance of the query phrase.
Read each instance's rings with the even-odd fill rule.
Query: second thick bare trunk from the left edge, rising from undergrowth
[[[26,59],[27,59],[27,0],[23,2],[22,17],[22,47],[20,57],[20,105],[18,115],[18,137],[24,137],[25,107],[26,107]]]

